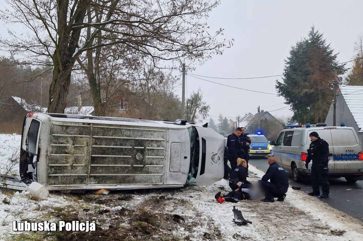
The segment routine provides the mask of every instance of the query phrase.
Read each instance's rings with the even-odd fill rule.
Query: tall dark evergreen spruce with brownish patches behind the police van
[[[293,120],[299,123],[323,122],[333,99],[334,69],[338,75],[346,72],[337,55],[326,43],[323,34],[311,27],[307,38],[291,47],[285,60],[283,83],[276,89],[291,105]]]

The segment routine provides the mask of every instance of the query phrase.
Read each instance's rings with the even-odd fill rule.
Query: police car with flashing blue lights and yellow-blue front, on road
[[[257,134],[248,135],[251,138],[250,149],[248,151],[250,156],[272,156],[272,146],[267,140],[266,136],[261,132]]]

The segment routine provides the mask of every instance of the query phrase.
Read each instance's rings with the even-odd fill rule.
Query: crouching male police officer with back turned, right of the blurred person
[[[289,179],[286,171],[277,164],[274,156],[269,156],[267,159],[270,165],[265,175],[258,181],[261,190],[265,194],[265,198],[261,202],[275,202],[274,198],[283,202],[286,197],[287,189],[289,188]],[[270,182],[268,180],[270,179]]]

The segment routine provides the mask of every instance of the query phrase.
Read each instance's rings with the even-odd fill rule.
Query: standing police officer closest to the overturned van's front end
[[[229,151],[228,160],[231,163],[231,168],[234,170],[237,166],[237,158],[243,158],[243,150],[241,148],[240,135],[242,129],[237,127],[234,132],[227,137],[227,147]]]

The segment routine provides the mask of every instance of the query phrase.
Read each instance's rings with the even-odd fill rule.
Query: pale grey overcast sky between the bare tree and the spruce
[[[223,55],[213,56],[191,73],[213,77],[259,77],[281,75],[284,59],[291,46],[306,37],[314,25],[327,40],[338,61],[353,59],[354,42],[363,32],[363,1],[239,1],[222,0],[209,15],[212,29],[224,28],[224,37],[233,38],[234,46]],[[348,64],[347,67],[350,67]],[[207,79],[201,77],[203,79]],[[207,79],[239,88],[276,93],[275,80],[270,77],[252,80]],[[211,106],[214,120],[222,113],[233,120],[236,115],[255,114],[258,105],[276,117],[290,117],[284,98],[221,86],[187,76],[188,96],[198,88]],[[181,90],[180,90],[181,96]],[[285,109],[273,111],[286,107]]]

